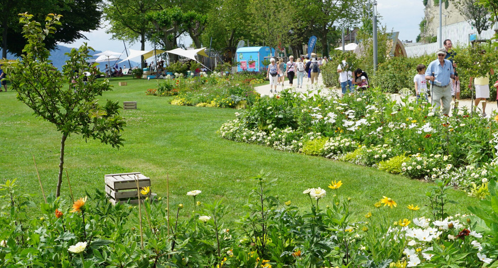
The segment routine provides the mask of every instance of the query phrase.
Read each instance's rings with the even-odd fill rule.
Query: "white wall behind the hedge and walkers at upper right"
[[[453,46],[467,46],[470,44],[469,36],[477,34],[475,29],[467,21],[457,22],[442,27],[443,39],[450,39]],[[481,32],[478,39],[491,39],[495,34],[494,26],[491,29]],[[437,27],[438,42],[430,44],[421,44],[413,46],[405,46],[406,54],[408,57],[418,57],[426,54],[436,53],[439,48],[439,27]],[[442,43],[442,42],[441,42]]]

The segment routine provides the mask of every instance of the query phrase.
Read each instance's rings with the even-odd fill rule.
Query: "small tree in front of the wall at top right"
[[[477,34],[480,35],[482,31],[486,31],[493,25],[490,12],[479,4],[479,0],[457,0],[455,6],[458,12],[469,21],[469,24],[476,28]]]

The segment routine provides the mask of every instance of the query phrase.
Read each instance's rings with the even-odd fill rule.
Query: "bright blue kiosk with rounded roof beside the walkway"
[[[250,71],[259,72],[266,66],[263,66],[262,61],[265,57],[271,57],[275,55],[275,49],[272,48],[270,52],[269,47],[241,47],[237,49],[237,62],[240,62],[237,66],[237,72]]]

